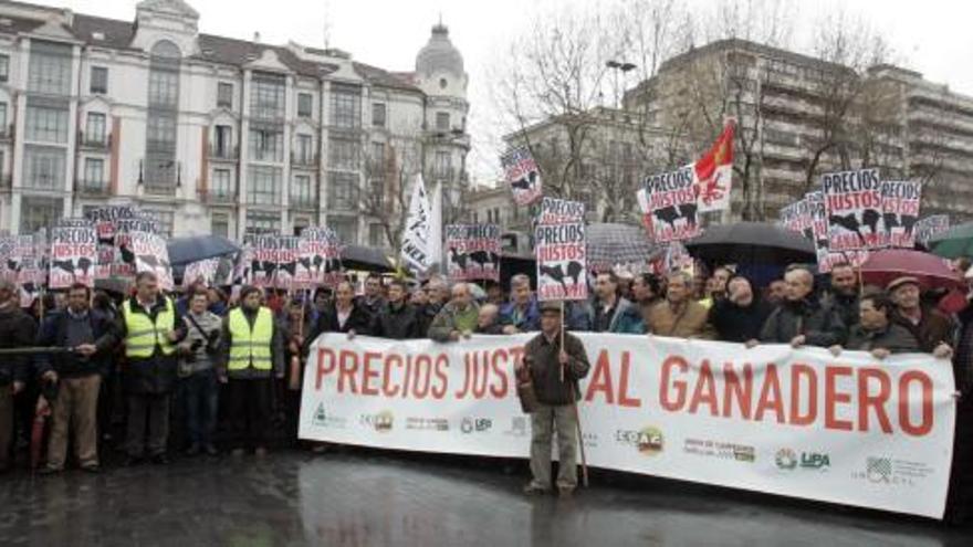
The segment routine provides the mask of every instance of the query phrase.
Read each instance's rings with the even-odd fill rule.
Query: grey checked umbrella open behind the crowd
[[[588,267],[598,271],[616,265],[648,263],[656,252],[646,231],[630,224],[597,223],[585,229]]]

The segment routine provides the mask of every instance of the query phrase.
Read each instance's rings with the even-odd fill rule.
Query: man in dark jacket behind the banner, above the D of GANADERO
[[[804,266],[792,266],[784,274],[784,302],[771,312],[761,329],[760,341],[831,347],[845,343],[841,316],[814,295],[814,274]],[[754,346],[756,340],[747,343]]]

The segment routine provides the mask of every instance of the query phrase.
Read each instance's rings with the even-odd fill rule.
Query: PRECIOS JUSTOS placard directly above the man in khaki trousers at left
[[[51,231],[48,286],[69,288],[75,283],[95,286],[98,236],[87,219],[63,219]]]

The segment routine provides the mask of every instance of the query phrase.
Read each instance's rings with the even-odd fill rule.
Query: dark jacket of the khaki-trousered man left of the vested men
[[[49,315],[38,333],[38,346],[67,348],[67,311],[55,312]],[[106,375],[111,366],[114,337],[112,336],[112,319],[95,309],[88,309],[87,322],[92,329],[91,344],[97,347],[97,353],[91,357],[82,357],[75,354],[42,354],[34,359],[36,374],[42,375],[48,370],[54,370],[62,378],[79,378],[94,374]]]

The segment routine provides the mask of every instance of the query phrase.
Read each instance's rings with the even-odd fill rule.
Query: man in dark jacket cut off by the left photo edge
[[[17,305],[17,285],[0,281],[0,349],[32,346],[36,327]],[[30,370],[27,356],[0,359],[0,473],[13,463],[10,441],[13,438],[13,397],[25,386]]]

